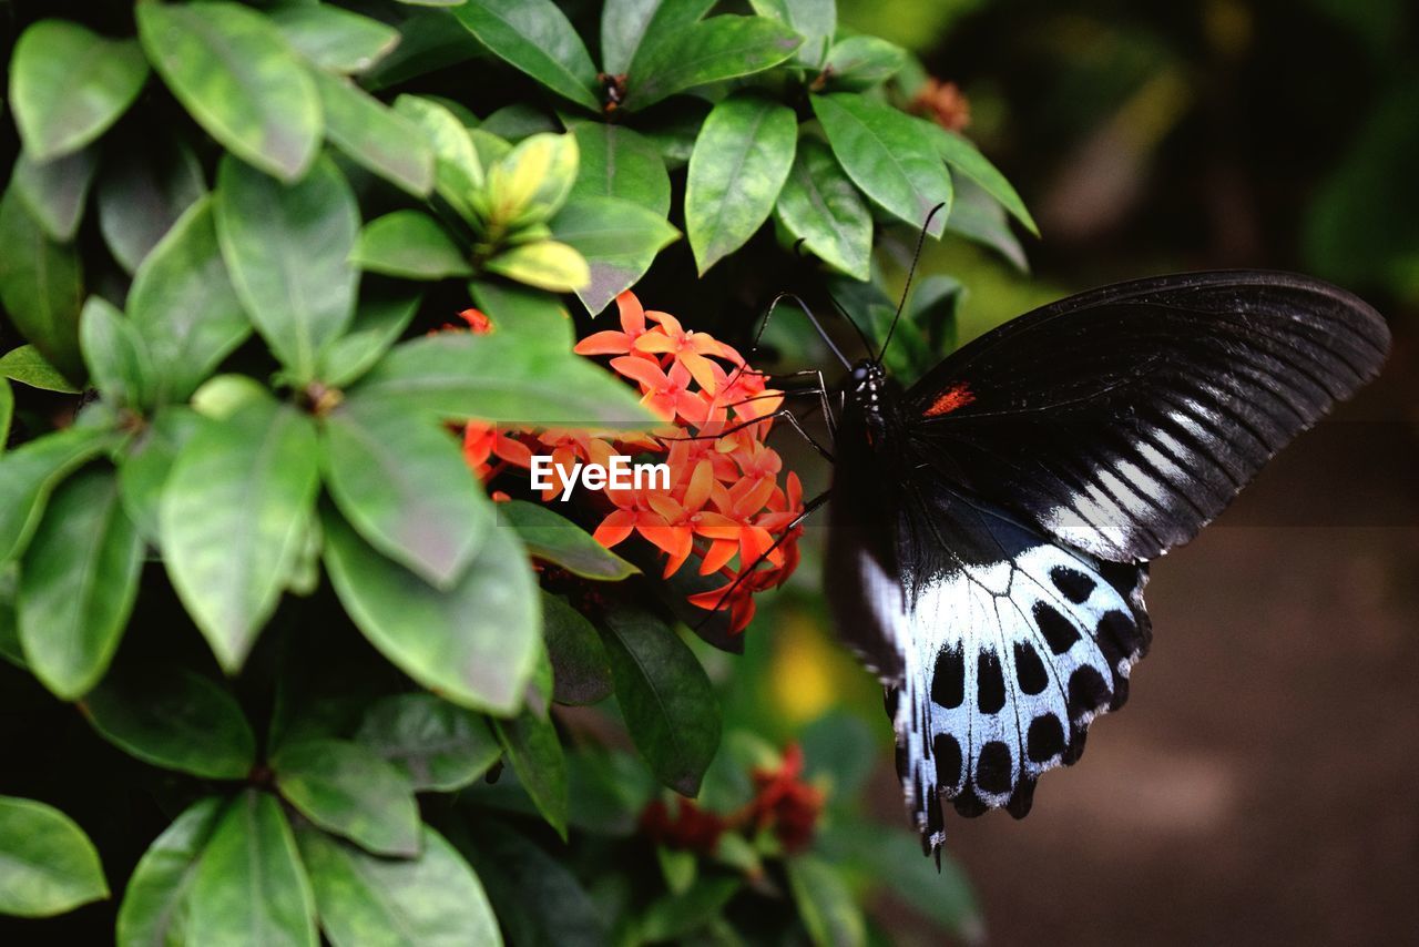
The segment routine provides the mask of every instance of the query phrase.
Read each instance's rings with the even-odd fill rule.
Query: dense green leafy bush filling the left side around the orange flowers
[[[68,815],[0,799],[0,912],[112,889],[74,923],[125,946],[861,943],[895,883],[969,933],[920,865],[815,841],[863,825],[860,782],[719,745],[664,584],[494,504],[450,432],[654,425],[572,351],[641,281],[738,297],[748,338],[792,273],[880,339],[934,206],[1019,258],[1010,185],[907,111],[920,64],[832,0],[35,6],[7,37],[0,788]],[[922,288],[905,368],[954,344],[959,285]],[[470,297],[495,331],[438,332]],[[701,785],[752,818],[657,836]]]

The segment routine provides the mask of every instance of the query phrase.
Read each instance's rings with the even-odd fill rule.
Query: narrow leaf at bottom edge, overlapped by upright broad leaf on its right
[[[217,798],[194,802],[148,846],[118,910],[118,947],[189,943],[187,892],[221,809]]]

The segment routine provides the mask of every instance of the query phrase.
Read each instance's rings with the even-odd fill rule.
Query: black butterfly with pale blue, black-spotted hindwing
[[[925,850],[945,838],[942,802],[1022,818],[1040,774],[1078,760],[1148,652],[1148,561],[1388,348],[1379,314],[1344,290],[1223,271],[1069,297],[905,390],[880,352],[851,366],[824,585],[885,684]]]

